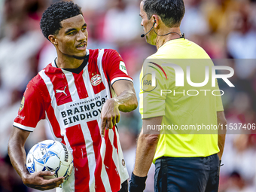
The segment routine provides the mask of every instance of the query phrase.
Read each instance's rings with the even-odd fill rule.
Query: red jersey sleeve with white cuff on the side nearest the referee
[[[106,50],[105,53],[105,70],[111,84],[118,80],[128,80],[133,82],[126,70],[122,57],[116,50]]]

